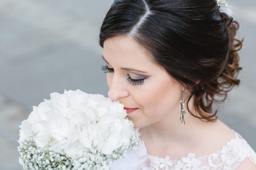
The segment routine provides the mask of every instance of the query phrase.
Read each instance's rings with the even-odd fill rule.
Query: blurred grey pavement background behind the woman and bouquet
[[[0,169],[21,170],[19,125],[52,92],[108,94],[100,69],[100,24],[113,0],[0,1]],[[220,120],[256,150],[256,1],[228,0],[240,23],[241,85],[218,107]]]

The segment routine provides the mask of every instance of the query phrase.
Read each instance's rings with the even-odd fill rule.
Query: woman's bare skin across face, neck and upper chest
[[[199,158],[221,150],[235,138],[234,132],[221,121],[203,122],[190,115],[187,101],[183,107],[187,113],[186,125],[181,124],[180,96],[184,85],[156,65],[150,53],[131,37],[115,36],[105,40],[103,59],[108,68],[114,69],[113,73],[107,73],[108,96],[124,107],[138,108],[127,117],[134,128],[140,128],[140,139],[145,140],[148,154],[180,160],[191,152]],[[129,76],[145,78],[144,84],[129,84]],[[188,96],[186,91],[187,99]],[[189,108],[196,113],[192,99]]]

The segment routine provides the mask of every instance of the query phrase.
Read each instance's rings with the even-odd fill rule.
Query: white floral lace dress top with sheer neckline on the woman
[[[139,131],[136,129],[136,134]],[[159,158],[148,155],[147,170],[234,170],[245,158],[249,158],[256,165],[256,153],[238,133],[220,151],[208,156],[196,158],[189,153],[188,157],[180,160],[170,160],[169,156]]]

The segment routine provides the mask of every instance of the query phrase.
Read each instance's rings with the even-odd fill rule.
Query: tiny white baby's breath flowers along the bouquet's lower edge
[[[35,135],[34,135],[35,136]],[[128,149],[136,149],[138,136],[130,138]],[[103,154],[96,147],[84,150],[83,157],[70,158],[65,154],[53,152],[50,140],[44,148],[36,146],[33,137],[20,142],[18,151],[23,160],[23,169],[26,170],[109,170],[109,164],[114,160],[125,157],[124,145],[115,149],[111,154]]]

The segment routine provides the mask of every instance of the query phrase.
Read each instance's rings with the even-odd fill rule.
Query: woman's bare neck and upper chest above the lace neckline
[[[189,108],[196,115],[192,101]],[[183,107],[186,124],[181,124],[180,109],[174,108],[161,120],[140,129],[140,139],[145,140],[149,155],[160,158],[169,155],[170,159],[180,160],[191,152],[203,157],[221,150],[230,139],[235,138],[232,130],[219,120],[203,122],[190,115],[186,104]]]

